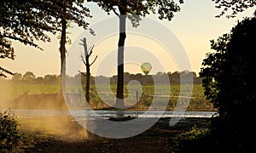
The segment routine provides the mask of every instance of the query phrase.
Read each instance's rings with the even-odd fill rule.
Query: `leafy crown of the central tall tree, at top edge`
[[[113,11],[116,15],[127,14],[133,26],[138,26],[139,16],[146,16],[147,14],[159,14],[160,20],[172,20],[174,13],[178,12],[180,8],[173,0],[87,0],[88,2],[95,2],[108,14]],[[183,0],[179,0],[183,3]],[[136,16],[135,16],[136,15]]]

